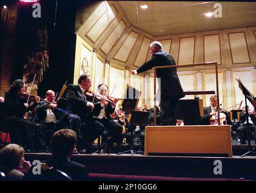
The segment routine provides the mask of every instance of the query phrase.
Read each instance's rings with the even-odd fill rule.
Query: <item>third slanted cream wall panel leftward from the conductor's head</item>
[[[123,19],[121,19],[117,27],[115,27],[115,29],[112,31],[110,36],[107,37],[106,41],[103,43],[103,45],[100,48],[105,54],[107,54],[110,51],[110,49],[115,45],[117,40],[121,37],[121,34],[126,29],[126,27],[127,26],[124,23]]]

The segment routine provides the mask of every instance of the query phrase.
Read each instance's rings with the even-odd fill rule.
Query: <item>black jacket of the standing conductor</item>
[[[152,55],[152,58],[137,69],[137,73],[145,72],[154,66],[175,65],[173,57],[165,51],[159,51]],[[158,69],[156,76],[161,78],[161,98],[178,100],[184,97],[184,92],[177,75],[176,68]]]

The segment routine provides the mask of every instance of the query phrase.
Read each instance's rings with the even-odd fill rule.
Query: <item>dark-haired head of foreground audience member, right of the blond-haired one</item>
[[[56,131],[51,138],[53,156],[68,158],[74,153],[77,134],[71,129]]]

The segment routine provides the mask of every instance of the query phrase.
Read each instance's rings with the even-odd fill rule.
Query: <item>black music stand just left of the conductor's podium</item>
[[[126,84],[126,90],[124,92],[123,95],[123,100],[120,104],[120,106],[122,107],[122,110],[124,112],[126,112],[127,114],[130,114],[132,116],[131,121],[130,121],[130,127],[132,128],[131,131],[131,145],[130,145],[130,150],[127,151],[123,151],[121,153],[118,153],[118,155],[120,154],[124,154],[124,153],[130,153],[132,154],[132,156],[134,155],[133,152],[133,117],[135,115],[135,109],[138,106],[139,103],[139,96],[141,96],[141,92],[139,92],[139,90],[136,90],[135,88],[133,88],[132,86],[129,86],[129,84]]]

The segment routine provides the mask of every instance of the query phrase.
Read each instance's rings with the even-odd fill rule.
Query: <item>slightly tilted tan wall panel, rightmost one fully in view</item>
[[[228,37],[232,55],[232,63],[251,63],[245,33],[229,33]]]

